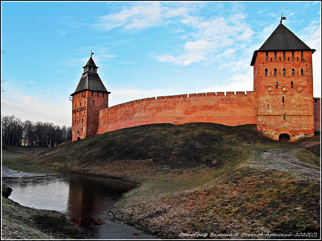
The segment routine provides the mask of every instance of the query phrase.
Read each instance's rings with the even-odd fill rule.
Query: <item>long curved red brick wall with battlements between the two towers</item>
[[[256,124],[256,92],[181,94],[145,98],[99,111],[97,134],[153,123]]]

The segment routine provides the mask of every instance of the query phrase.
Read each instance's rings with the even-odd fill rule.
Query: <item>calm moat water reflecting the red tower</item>
[[[156,239],[111,221],[109,210],[133,188],[119,180],[78,174],[38,174],[2,167],[2,183],[13,189],[9,198],[36,209],[64,213],[87,239]]]

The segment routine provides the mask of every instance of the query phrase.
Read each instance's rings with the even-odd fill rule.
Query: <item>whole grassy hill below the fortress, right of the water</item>
[[[319,136],[273,141],[256,125],[152,124],[6,158],[3,165],[131,180],[137,188],[115,205],[114,216],[163,238],[318,233],[319,145]]]

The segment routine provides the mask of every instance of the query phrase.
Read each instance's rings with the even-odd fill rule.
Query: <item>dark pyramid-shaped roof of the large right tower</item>
[[[285,27],[282,23],[272,32],[265,43],[256,51],[254,51],[251,59],[251,66],[254,66],[258,51],[284,51],[284,50],[311,50],[302,40],[300,40],[292,31]]]

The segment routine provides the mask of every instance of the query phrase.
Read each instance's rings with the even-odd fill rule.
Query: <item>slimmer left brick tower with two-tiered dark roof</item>
[[[97,73],[92,55],[70,100],[72,101],[72,141],[97,133],[99,111],[107,108],[109,94]]]

